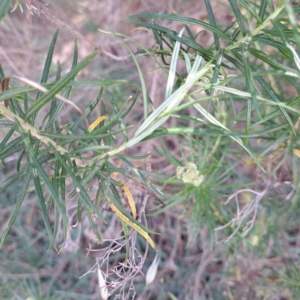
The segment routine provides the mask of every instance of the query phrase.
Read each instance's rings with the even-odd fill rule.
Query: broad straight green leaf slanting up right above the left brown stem
[[[64,88],[67,83],[74,78],[74,76],[82,70],[88,63],[95,58],[98,51],[92,53],[86,57],[82,62],[80,62],[74,69],[72,69],[68,74],[62,77],[57,83],[55,83],[47,93],[45,93],[40,99],[38,99],[27,111],[26,120],[28,120],[32,115],[37,113],[45,104],[47,104],[62,88]]]

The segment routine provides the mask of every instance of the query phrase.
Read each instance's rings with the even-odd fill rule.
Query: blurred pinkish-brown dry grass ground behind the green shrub
[[[84,79],[123,79],[136,81],[138,83],[138,75],[135,66],[131,60],[127,60],[128,52],[123,47],[122,43],[118,41],[113,35],[103,34],[97,29],[111,30],[120,32],[124,35],[130,36],[138,40],[146,47],[153,46],[153,39],[151,34],[145,30],[133,30],[135,26],[128,22],[127,17],[137,13],[151,12],[151,13],[172,13],[176,12],[179,15],[208,21],[204,1],[194,0],[128,0],[128,1],[108,1],[108,0],[52,0],[48,1],[49,6],[45,6],[39,1],[29,1],[34,5],[41,5],[42,9],[47,11],[47,14],[31,14],[26,8],[25,1],[21,1],[23,13],[18,8],[14,12],[9,13],[5,19],[0,23],[0,63],[5,71],[5,75],[16,74],[19,76],[27,77],[31,80],[39,81],[41,78],[44,60],[46,58],[47,49],[50,45],[51,38],[55,30],[60,27],[58,42],[55,49],[53,58],[53,72],[55,74],[55,66],[57,61],[62,64],[63,70],[69,70],[71,66],[71,57],[74,46],[74,35],[76,35],[79,59],[86,57],[94,51],[95,48],[103,50],[99,57],[84,69],[80,74],[80,78]],[[215,12],[216,22],[219,24],[228,24],[233,20],[233,16],[228,9],[227,1],[211,1],[212,8]],[[160,21],[161,25],[179,31],[181,24],[174,22]],[[191,28],[194,33],[199,28]],[[211,42],[211,35],[203,32],[198,37],[198,42],[202,46],[207,46]],[[126,40],[131,46],[133,51],[138,50],[137,46],[130,41]],[[164,96],[166,78],[162,74],[152,72],[154,64],[150,59],[145,57],[138,58],[142,70],[145,74],[147,90],[149,95],[154,101],[155,106],[158,106]],[[96,96],[98,90],[96,88],[84,88],[72,93],[72,100],[74,100],[82,109],[90,104],[92,99]],[[128,92],[128,97],[130,93]],[[133,109],[132,115],[142,114],[141,101]],[[68,121],[70,109],[64,110],[64,115],[61,116],[65,122]],[[65,118],[65,119],[64,119]],[[139,121],[132,129],[132,133],[136,130]],[[0,129],[0,135],[5,133]],[[172,142],[172,143],[171,143]],[[170,142],[170,147],[173,148],[172,154],[176,157],[178,149],[176,149],[176,138]],[[121,143],[121,141],[120,141]],[[154,149],[152,157],[153,168],[159,171],[174,175],[174,168],[165,162],[163,157],[159,157],[155,153],[157,145],[151,145]],[[134,150],[136,155],[144,155],[148,149],[143,147]],[[186,149],[187,156],[189,149]],[[5,160],[6,167],[2,167],[2,178],[7,178],[12,175],[15,170],[10,168],[9,164],[14,163],[16,157]],[[252,170],[253,171],[253,170]],[[252,173],[252,171],[249,173]],[[0,171],[1,172],[1,171]],[[136,191],[135,195],[139,193]],[[28,207],[32,210],[23,215],[23,221],[26,226],[32,231],[32,237],[37,236],[38,232],[35,231],[37,211],[34,199],[28,199]],[[10,208],[2,210],[0,218],[5,220],[9,215]],[[3,224],[3,221],[0,221]],[[112,222],[115,225],[114,222]],[[113,226],[112,225],[112,226]],[[24,225],[25,226],[25,225]],[[119,226],[119,225],[115,225]],[[218,288],[220,296],[218,299],[263,299],[262,289],[258,286],[257,282],[260,277],[267,276],[264,266],[274,266],[277,263],[281,264],[280,257],[272,259],[255,260],[247,256],[245,251],[237,254],[236,258],[227,257],[226,253],[222,250],[222,245],[216,247],[211,252],[210,245],[206,244],[209,240],[207,238],[208,232],[205,229],[200,229],[199,244],[194,245],[190,249],[186,249],[187,236],[186,231],[182,229],[185,226],[179,218],[179,214],[174,212],[166,212],[152,218],[149,227],[157,232],[162,232],[162,236],[157,239],[158,244],[164,249],[165,256],[163,257],[163,267],[159,270],[157,276],[157,284],[148,288],[147,293],[144,294],[144,299],[172,299],[163,294],[162,291],[169,290],[170,286],[178,286],[178,299],[211,299],[209,298],[209,289]],[[26,227],[26,228],[27,228]],[[16,230],[16,229],[15,229]],[[103,230],[104,237],[110,235],[116,230],[115,228],[107,228]],[[65,291],[74,291],[76,295],[67,296],[62,299],[99,299],[98,288],[96,285],[96,277],[90,276],[87,281],[83,281],[82,286],[74,285],[72,282],[78,280],[82,273],[88,270],[88,267],[93,264],[93,259],[96,255],[91,254],[85,258],[86,247],[88,247],[88,237],[91,237],[91,231],[88,228],[83,229],[83,237],[78,236],[75,242],[67,245],[67,250],[61,254],[56,260],[55,253],[45,254],[49,256],[51,265],[43,265],[41,267],[34,266],[26,261],[22,261],[21,257],[10,258],[11,253],[17,251],[18,240],[8,240],[2,251],[2,257],[6,257],[8,264],[20,265],[24,264],[24,273],[14,273],[10,268],[5,268],[2,265],[0,273],[2,273],[2,282],[8,278],[14,282],[20,279],[38,278],[42,290],[42,295],[46,295],[49,289],[53,288],[49,281],[46,279],[49,273],[52,278],[64,283],[57,286]],[[44,243],[43,239],[41,243]],[[40,242],[32,244],[34,247],[39,247]],[[78,252],[83,256],[78,256]],[[71,254],[68,254],[70,251]],[[269,251],[271,251],[269,249]],[[43,250],[40,251],[43,253]],[[51,252],[51,251],[50,251]],[[153,254],[154,256],[154,254]],[[152,257],[153,258],[153,257]],[[151,263],[149,257],[148,265]],[[189,269],[197,264],[196,272],[189,274]],[[229,268],[228,268],[229,266]],[[222,269],[227,268],[227,276],[222,277]],[[181,273],[183,272],[183,273]],[[5,274],[5,276],[3,275]],[[71,274],[71,275],[70,275]],[[184,274],[182,276],[181,274]],[[68,277],[70,276],[70,277]],[[182,277],[181,277],[182,276]],[[0,274],[1,278],[1,274]],[[209,279],[208,279],[209,278]],[[72,281],[73,280],[73,281]],[[143,277],[139,278],[137,285],[143,284]],[[206,281],[210,280],[209,287],[206,286]],[[274,283],[271,283],[273,286]],[[10,282],[10,284],[12,284]],[[14,284],[12,284],[14,286]],[[231,292],[234,289],[234,293]],[[141,290],[141,288],[140,288]],[[206,291],[206,294],[202,292]],[[82,295],[82,296],[79,296]],[[165,295],[165,296],[162,296]],[[200,296],[201,295],[201,296]],[[282,291],[282,298],[264,298],[264,299],[292,299],[288,298],[288,291]],[[81,298],[80,298],[81,297]],[[165,298],[164,298],[165,297]],[[203,297],[203,298],[200,298]],[[262,296],[263,297],[263,296]],[[278,296],[279,297],[279,296]]]

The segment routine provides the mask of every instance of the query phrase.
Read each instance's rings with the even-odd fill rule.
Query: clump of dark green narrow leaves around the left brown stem
[[[45,84],[47,82],[49,70],[51,68],[51,61],[55,43],[57,40],[57,34],[58,31],[54,34],[46,58],[43,76],[41,79],[42,86],[47,86]],[[69,71],[63,77],[59,78],[55,83],[51,84],[50,89],[47,90],[46,93],[43,94],[41,93],[41,91],[38,91],[37,99],[34,102],[32,97],[30,97],[26,93],[27,91],[22,91],[22,93],[26,93],[25,99],[29,103],[33,103],[31,106],[24,105],[24,108],[26,108],[26,110],[23,111],[20,108],[20,110],[17,112],[14,105],[16,105],[18,102],[14,99],[9,100],[10,110],[6,109],[5,107],[0,109],[1,113],[6,118],[12,121],[11,123],[9,123],[9,126],[12,127],[12,130],[8,132],[8,135],[3,139],[1,144],[1,158],[4,159],[8,155],[12,155],[13,153],[18,153],[20,151],[20,162],[24,156],[24,151],[26,152],[27,156],[27,162],[21,167],[19,164],[19,172],[16,172],[16,174],[12,178],[2,183],[0,187],[0,190],[4,191],[16,180],[23,180],[22,192],[19,194],[17,205],[15,206],[4,234],[2,235],[0,247],[3,246],[5,238],[8,232],[11,230],[13,223],[19,213],[24,197],[26,196],[26,191],[30,179],[33,179],[34,181],[34,186],[38,195],[44,224],[50,240],[50,247],[54,246],[56,248],[55,234],[57,230],[53,231],[49,221],[48,214],[52,213],[51,210],[49,208],[47,209],[46,207],[46,203],[49,201],[51,201],[53,209],[58,212],[58,214],[56,215],[55,227],[58,224],[58,217],[61,216],[64,237],[66,238],[67,228],[70,224],[66,215],[65,199],[64,201],[62,201],[63,199],[59,197],[59,194],[63,195],[65,193],[65,181],[67,180],[67,176],[62,176],[61,174],[63,173],[68,174],[68,177],[72,180],[74,191],[76,191],[76,193],[72,193],[72,197],[78,195],[78,204],[80,203],[80,205],[82,205],[82,207],[86,211],[86,215],[90,221],[90,225],[93,228],[95,235],[101,242],[100,234],[95,225],[95,217],[99,218],[104,223],[106,223],[106,221],[101,215],[99,207],[96,207],[94,201],[90,199],[90,196],[84,186],[88,186],[95,178],[97,178],[97,180],[102,182],[102,184],[108,182],[108,188],[110,188],[111,186],[112,189],[115,189],[115,183],[110,180],[111,166],[107,162],[109,154],[107,155],[105,153],[105,150],[113,149],[113,145],[99,145],[101,143],[101,140],[106,140],[107,137],[117,134],[118,132],[124,133],[126,128],[124,127],[122,120],[130,112],[130,108],[134,105],[136,98],[131,101],[130,105],[127,105],[127,101],[127,103],[121,109],[117,109],[117,106],[115,106],[115,117],[111,118],[111,120],[105,126],[102,126],[93,131],[88,130],[88,128],[83,128],[83,121],[87,120],[86,117],[92,113],[99,101],[101,101],[101,95],[104,91],[105,86],[119,84],[122,83],[122,81],[74,81],[76,74],[80,70],[82,70],[98,53],[95,52],[91,54],[82,62],[77,64],[77,52],[77,44],[75,41],[73,66],[71,71]],[[20,79],[18,77],[15,78]],[[29,84],[31,83],[29,82]],[[88,107],[85,113],[75,123],[69,123],[67,124],[67,127],[63,127],[59,124],[58,121],[59,112],[63,107],[61,105],[62,102],[57,101],[59,99],[57,93],[64,89],[62,94],[68,96],[74,85],[98,85],[101,87],[101,89],[99,96]],[[44,91],[43,89],[41,90]],[[8,92],[2,93],[2,101],[6,99],[7,94]],[[11,96],[11,94],[9,96]],[[16,98],[18,96],[21,96],[21,93],[20,91],[18,91],[18,89],[17,91],[15,91],[14,96]],[[56,97],[58,99],[56,99]],[[41,109],[44,108],[50,101],[50,111],[42,120],[42,124],[44,125],[39,125],[39,129],[37,130],[35,127],[36,116],[41,111]],[[111,101],[112,103],[115,103],[116,99],[112,97]],[[67,101],[65,101],[65,103],[69,104],[69,102]],[[120,129],[112,130],[112,128],[118,124],[120,124]],[[82,134],[76,134],[79,129],[83,131]],[[63,134],[63,130],[67,130],[68,133]],[[21,134],[20,138],[17,138],[14,142],[7,143],[14,131],[17,131]],[[44,146],[46,146],[46,148],[44,148]],[[71,149],[73,149],[73,151]],[[74,151],[75,149],[76,151]],[[85,157],[84,155],[82,155],[82,153],[87,151],[93,151],[94,154],[92,156],[95,157],[94,160],[90,160],[89,157]],[[45,170],[48,169],[49,171],[51,171],[53,165],[55,165],[55,173],[51,175]],[[122,173],[124,174],[124,172]],[[135,171],[135,173],[138,176],[142,176],[139,171]],[[145,178],[144,181],[148,183],[148,180]],[[101,186],[99,188],[101,188]],[[44,196],[45,191],[48,191],[50,193],[50,199],[47,201]],[[123,210],[123,214],[127,216],[127,218],[131,218],[126,210]],[[133,224],[140,226],[136,220],[133,219],[132,222]]]

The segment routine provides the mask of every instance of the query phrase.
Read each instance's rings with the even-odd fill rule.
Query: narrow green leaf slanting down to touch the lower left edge
[[[14,224],[14,222],[15,222],[15,220],[16,220],[19,212],[20,212],[20,208],[21,208],[23,200],[26,196],[26,191],[27,191],[27,188],[28,188],[28,185],[29,185],[29,182],[30,182],[30,178],[31,178],[31,167],[29,166],[28,168],[26,168],[26,173],[25,173],[25,176],[24,176],[24,179],[23,179],[23,184],[22,184],[20,193],[18,194],[15,207],[14,207],[13,212],[12,212],[10,218],[9,218],[8,224],[7,224],[7,226],[4,229],[4,232],[2,234],[2,237],[1,237],[1,240],[0,240],[0,249],[2,248],[2,246],[5,242],[5,239],[6,239],[11,227],[13,226],[13,224]]]

